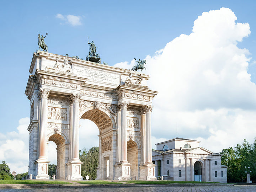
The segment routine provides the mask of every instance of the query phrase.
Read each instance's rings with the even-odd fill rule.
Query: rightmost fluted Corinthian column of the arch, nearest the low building
[[[146,105],[146,164],[152,164],[152,144],[151,144],[151,112],[153,106]]]

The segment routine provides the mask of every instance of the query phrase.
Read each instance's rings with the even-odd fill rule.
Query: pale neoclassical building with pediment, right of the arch
[[[221,165],[222,154],[199,147],[199,141],[174,138],[157,143],[152,150],[155,176],[169,175],[173,181],[227,182],[227,167]]]

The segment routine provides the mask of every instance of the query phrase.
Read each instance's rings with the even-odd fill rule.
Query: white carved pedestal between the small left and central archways
[[[70,180],[82,180],[81,176],[81,165],[82,162],[79,160],[71,160],[66,163],[68,165],[68,176],[66,179]]]

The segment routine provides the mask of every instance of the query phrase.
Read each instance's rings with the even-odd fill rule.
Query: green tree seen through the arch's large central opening
[[[97,177],[96,168],[98,167],[98,147],[92,147],[88,152],[84,148],[79,150],[79,159],[83,162],[81,167],[81,175],[85,177],[89,176],[89,179],[95,179]]]

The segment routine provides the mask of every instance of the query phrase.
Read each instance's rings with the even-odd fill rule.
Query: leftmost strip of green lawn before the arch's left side
[[[66,181],[45,181],[45,180],[0,180],[0,184],[73,184]]]

